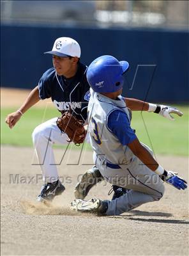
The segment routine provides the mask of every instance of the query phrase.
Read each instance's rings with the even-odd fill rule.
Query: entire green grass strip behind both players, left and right
[[[154,113],[133,111],[132,127],[143,143],[153,147],[155,154],[188,155],[188,107],[178,106],[184,113],[179,118],[174,115],[174,122]],[[31,134],[34,127],[59,115],[55,108],[31,108],[20,121],[9,129],[4,119],[13,108],[1,109],[1,144],[32,146]],[[77,148],[77,147],[76,147]],[[88,147],[89,148],[89,147]]]

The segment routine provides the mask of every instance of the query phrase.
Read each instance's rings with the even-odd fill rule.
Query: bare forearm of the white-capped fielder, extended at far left
[[[24,114],[27,109],[31,108],[40,100],[38,86],[36,86],[27,96],[24,104],[20,107],[20,111]]]

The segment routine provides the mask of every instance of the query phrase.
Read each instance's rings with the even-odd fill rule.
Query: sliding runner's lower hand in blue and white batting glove
[[[174,186],[177,189],[186,189],[187,182],[183,178],[179,177],[176,172],[166,171],[167,175],[160,176],[163,181],[167,182],[168,184]]]

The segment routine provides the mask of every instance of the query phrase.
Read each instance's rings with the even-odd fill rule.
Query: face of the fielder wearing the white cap
[[[75,58],[52,56],[52,63],[59,76],[72,77],[75,74]]]

